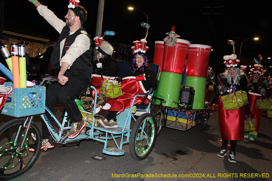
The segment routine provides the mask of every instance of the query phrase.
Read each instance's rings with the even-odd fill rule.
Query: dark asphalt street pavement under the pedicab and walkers
[[[62,107],[55,109],[58,116],[62,111]],[[11,119],[14,118],[1,114],[0,125]],[[34,121],[41,126],[39,116],[35,116]],[[109,156],[102,154],[104,144],[83,140],[80,146],[70,144],[41,152],[27,173],[12,180],[269,181],[272,180],[271,130],[272,119],[267,118],[267,113],[264,112],[257,141],[251,142],[245,138],[239,140],[235,157],[237,163],[229,163],[228,154],[224,158],[217,156],[221,149],[221,135],[216,109],[212,111],[206,129],[203,129],[203,124],[187,132],[162,128],[153,151],[145,160],[134,160],[128,144],[123,146],[124,156]],[[108,146],[114,147],[114,143],[109,141]],[[106,159],[98,161],[92,159],[93,156]]]

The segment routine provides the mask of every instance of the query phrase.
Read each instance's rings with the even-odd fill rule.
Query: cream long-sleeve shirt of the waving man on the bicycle
[[[51,24],[59,33],[61,33],[63,27],[66,26],[64,21],[60,20],[51,10],[47,8],[47,6],[38,6],[37,10],[49,24]],[[75,32],[70,31],[70,35],[73,33]],[[72,66],[73,62],[76,61],[79,56],[90,49],[91,42],[87,35],[80,34],[76,37],[74,43],[69,47],[66,54],[61,58],[65,40],[66,39],[62,40],[60,43],[60,66],[62,65],[62,62],[67,62],[70,66]],[[70,66],[68,69],[70,69]]]

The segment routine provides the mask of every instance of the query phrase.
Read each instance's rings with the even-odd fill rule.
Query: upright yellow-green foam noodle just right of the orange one
[[[20,87],[26,88],[25,45],[19,45]]]

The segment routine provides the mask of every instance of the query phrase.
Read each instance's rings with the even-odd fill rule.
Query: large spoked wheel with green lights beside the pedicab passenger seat
[[[143,160],[151,153],[157,138],[157,123],[150,113],[138,117],[131,130],[129,151],[135,160]]]

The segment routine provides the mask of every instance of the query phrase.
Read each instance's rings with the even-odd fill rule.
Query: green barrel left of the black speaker
[[[164,99],[163,105],[169,107],[177,107],[179,103],[179,94],[181,87],[182,75],[161,72],[160,81],[157,89],[156,97]],[[176,102],[176,103],[173,103]],[[155,100],[155,104],[160,104],[159,100]]]

